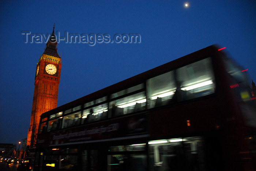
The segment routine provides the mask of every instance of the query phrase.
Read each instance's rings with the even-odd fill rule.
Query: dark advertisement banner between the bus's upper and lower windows
[[[39,135],[37,147],[94,143],[148,136],[147,114],[117,118]]]

